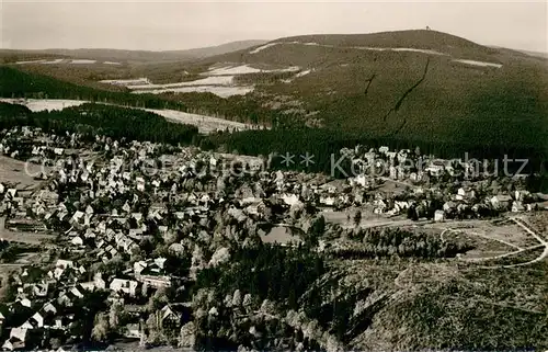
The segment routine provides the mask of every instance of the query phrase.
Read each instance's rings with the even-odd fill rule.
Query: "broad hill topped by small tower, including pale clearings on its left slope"
[[[102,90],[146,77],[149,83],[127,90],[227,120],[321,127],[321,139],[336,146],[376,140],[455,157],[548,154],[547,60],[435,31],[294,36],[192,61],[73,66],[16,68]],[[296,140],[302,133],[253,132],[229,144],[240,150],[247,143],[249,152],[324,149],[315,138]]]

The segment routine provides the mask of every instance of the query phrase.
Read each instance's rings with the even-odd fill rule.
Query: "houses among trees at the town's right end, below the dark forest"
[[[393,182],[400,188],[392,192],[373,191],[375,195],[367,203],[375,214],[407,213],[413,218],[441,222],[546,208],[546,196],[525,190],[523,178],[505,178],[502,185],[492,174],[479,172],[473,162],[434,159],[408,149],[390,151],[388,147],[364,152],[357,146],[355,150],[346,149],[341,154],[350,156],[352,164],[361,172],[349,178],[351,185],[375,190],[380,181]],[[362,201],[361,197],[355,200]]]

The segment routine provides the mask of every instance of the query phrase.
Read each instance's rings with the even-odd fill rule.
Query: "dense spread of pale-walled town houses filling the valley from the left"
[[[151,311],[147,302],[155,293],[184,287],[199,270],[228,261],[227,239],[241,246],[253,236],[269,243],[298,242],[285,225],[326,208],[368,208],[379,216],[411,214],[437,222],[458,214],[489,214],[482,209],[535,208],[535,196],[527,191],[503,192],[482,180],[450,188],[425,181],[442,174],[445,169],[438,164],[408,178],[397,167],[390,168],[388,178],[368,177],[365,170],[376,160],[403,163],[411,156],[409,150],[390,152],[386,147],[367,152],[356,148],[353,162],[364,172],[330,180],[264,170],[260,158],[196,148],[101,136],[90,144],[78,135],[50,136],[31,128],[14,128],[0,137],[0,152],[23,160],[32,156],[52,166],[43,185],[23,195],[0,183],[2,216],[45,226],[59,235],[60,248],[50,253],[46,270],[31,268],[12,277],[13,300],[0,310],[4,350],[50,348],[52,339],[78,341],[81,303],[98,292],[107,293],[109,305],[138,307],[129,309],[130,317],[118,328],[126,337],[146,339],[144,321],[151,316],[157,326],[180,328],[189,318],[189,305],[164,303]],[[227,161],[248,171],[219,168]],[[409,181],[410,186],[384,190],[392,180]],[[262,230],[259,223],[273,226]],[[190,271],[179,273],[170,260],[185,256],[192,257]]]

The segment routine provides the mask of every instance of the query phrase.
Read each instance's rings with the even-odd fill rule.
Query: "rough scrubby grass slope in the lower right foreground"
[[[365,260],[341,261],[335,268],[340,279],[324,281],[323,288],[317,289],[329,293],[330,287],[339,287],[338,304],[358,297],[363,306],[385,297],[347,318],[343,339],[350,350],[548,347],[546,262],[496,270],[448,261]],[[354,306],[350,305],[351,311]]]

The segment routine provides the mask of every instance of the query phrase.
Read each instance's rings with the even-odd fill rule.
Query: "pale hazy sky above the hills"
[[[548,52],[546,1],[0,0],[2,48],[187,49],[302,34],[424,29]]]

